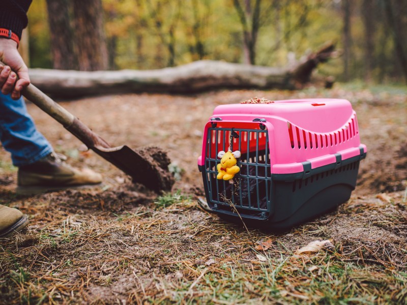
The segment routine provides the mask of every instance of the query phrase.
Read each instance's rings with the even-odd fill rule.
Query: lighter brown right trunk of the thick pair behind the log
[[[79,70],[106,70],[108,56],[101,0],[72,0],[72,2]]]

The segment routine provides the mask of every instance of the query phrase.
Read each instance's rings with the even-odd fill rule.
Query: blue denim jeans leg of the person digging
[[[0,141],[11,153],[14,166],[34,163],[52,153],[52,146],[37,131],[22,98],[14,101],[0,92]]]

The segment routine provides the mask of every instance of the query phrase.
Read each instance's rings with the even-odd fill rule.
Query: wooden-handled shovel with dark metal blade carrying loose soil
[[[153,153],[148,148],[136,152],[126,145],[113,147],[33,84],[28,85],[21,93],[61,123],[89,149],[131,176],[133,182],[156,192],[171,190],[174,180],[168,171],[169,159],[157,147],[153,147]]]

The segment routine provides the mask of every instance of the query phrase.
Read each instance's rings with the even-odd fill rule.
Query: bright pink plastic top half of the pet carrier
[[[271,172],[289,174],[304,171],[303,162],[312,169],[356,157],[360,144],[356,113],[344,99],[281,100],[271,104],[229,104],[215,108],[206,128],[202,147],[212,122],[222,127],[239,127],[263,122],[269,131]],[[198,159],[203,165],[205,158]]]

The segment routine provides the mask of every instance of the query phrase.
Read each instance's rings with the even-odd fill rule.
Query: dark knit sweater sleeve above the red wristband
[[[0,28],[11,29],[19,38],[28,24],[27,11],[33,0],[1,0]]]

